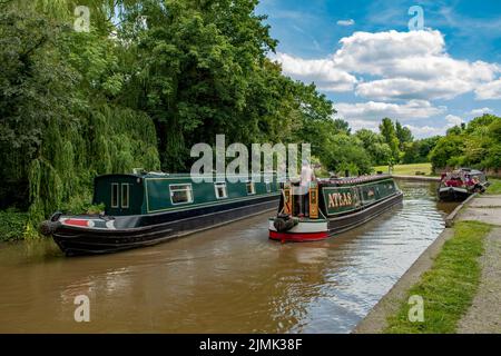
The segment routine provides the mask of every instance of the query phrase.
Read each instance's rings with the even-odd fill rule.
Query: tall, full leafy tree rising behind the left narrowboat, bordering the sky
[[[131,40],[134,67],[141,68],[129,88],[137,108],[155,121],[165,170],[187,169],[189,147],[213,144],[216,134],[247,144],[275,125],[269,111],[284,107],[279,89],[271,92],[266,82],[281,78],[266,53],[276,41],[265,17],[254,13],[257,1],[138,3],[128,8],[119,36]],[[143,29],[138,17],[147,19]],[[247,107],[259,95],[267,112],[257,116]]]

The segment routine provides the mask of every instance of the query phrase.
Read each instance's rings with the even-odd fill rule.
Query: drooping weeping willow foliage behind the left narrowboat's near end
[[[149,117],[107,105],[67,126],[51,121],[29,168],[32,225],[57,209],[85,210],[97,175],[159,169],[155,137]]]

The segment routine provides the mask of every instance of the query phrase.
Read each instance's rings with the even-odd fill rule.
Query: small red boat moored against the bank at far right
[[[470,168],[460,168],[442,175],[438,196],[440,200],[464,200],[473,192],[483,192],[489,186],[485,174]]]

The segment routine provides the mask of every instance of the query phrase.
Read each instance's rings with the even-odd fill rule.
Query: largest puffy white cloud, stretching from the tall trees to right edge
[[[453,99],[474,91],[479,99],[501,98],[501,67],[451,58],[440,31],[354,32],[326,59],[278,53],[284,72],[325,91],[350,91],[370,100]],[[355,75],[371,76],[356,80]]]

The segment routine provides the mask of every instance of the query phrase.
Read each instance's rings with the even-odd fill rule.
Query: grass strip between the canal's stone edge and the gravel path
[[[477,221],[454,225],[454,236],[448,240],[432,268],[407,293],[396,315],[387,318],[384,333],[443,334],[454,333],[458,322],[471,305],[480,283],[478,258],[483,253],[483,239],[491,226]],[[409,320],[409,297],[424,300],[424,322]]]

